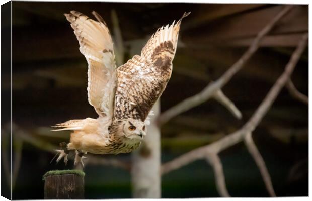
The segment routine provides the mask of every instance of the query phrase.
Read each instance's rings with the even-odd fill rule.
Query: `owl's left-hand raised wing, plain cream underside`
[[[113,41],[103,18],[95,11],[92,14],[98,22],[77,11],[64,15],[71,23],[79,50],[89,64],[89,103],[99,116],[112,116],[117,79]]]

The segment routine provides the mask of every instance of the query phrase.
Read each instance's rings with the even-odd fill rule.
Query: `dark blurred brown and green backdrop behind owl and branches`
[[[140,53],[157,28],[191,11],[182,22],[172,78],[161,98],[161,112],[164,112],[220,77],[283,9],[283,5],[273,4],[12,4],[13,199],[43,199],[42,175],[48,170],[72,168],[72,161],[67,167],[55,161],[50,164],[54,156],[51,150],[69,139],[69,131],[50,132],[50,126],[69,119],[97,118],[88,103],[87,62],[63,13],[76,10],[93,18],[91,12],[95,10],[115,38],[114,10],[122,35],[124,60],[128,60]],[[3,26],[10,28],[10,24]],[[236,119],[213,99],[173,118],[161,128],[162,162],[210,144],[244,125],[283,72],[302,33],[307,31],[308,5],[296,5],[264,37],[261,47],[244,68],[223,87],[243,118]],[[303,94],[308,94],[307,50],[291,77]],[[3,71],[2,79],[8,83],[3,84],[2,94],[10,96],[10,69]],[[3,129],[2,134],[7,140],[8,131]],[[277,196],[308,196],[307,105],[283,89],[253,137]],[[86,165],[85,198],[131,198],[131,155],[96,157],[103,161]],[[269,196],[243,142],[222,151],[220,158],[232,196]],[[118,159],[123,165],[111,166],[105,162],[109,159]],[[2,164],[4,172],[10,162],[3,157]],[[2,181],[7,182],[8,178],[3,176]],[[204,160],[165,174],[161,189],[162,197],[219,196],[213,169]]]

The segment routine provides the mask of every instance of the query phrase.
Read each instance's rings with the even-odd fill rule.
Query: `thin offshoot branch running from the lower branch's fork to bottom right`
[[[259,170],[260,170],[263,181],[265,183],[265,186],[266,186],[270,196],[276,197],[269,171],[265,165],[265,162],[264,162],[259,150],[257,149],[255,142],[253,141],[251,132],[248,132],[245,135],[244,142],[245,142],[245,145],[246,145],[249,153],[253,156],[253,158],[254,158],[254,160],[255,160],[255,162],[256,162]]]

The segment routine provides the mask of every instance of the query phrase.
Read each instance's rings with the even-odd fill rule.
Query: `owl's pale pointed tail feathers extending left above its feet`
[[[93,125],[94,123],[97,124],[97,122],[98,120],[92,118],[87,118],[83,120],[69,120],[67,122],[52,126],[60,129],[54,129],[51,131],[84,130],[86,129],[86,127],[88,127],[88,125]]]

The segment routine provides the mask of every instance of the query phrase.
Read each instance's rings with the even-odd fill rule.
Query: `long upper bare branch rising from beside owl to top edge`
[[[257,37],[252,42],[248,50],[243,54],[243,56],[233,64],[218,80],[209,83],[200,93],[184,99],[182,102],[176,106],[170,108],[166,112],[160,115],[159,125],[168,122],[173,117],[190,110],[211,98],[214,93],[222,88],[233,75],[235,75],[246,63],[246,61],[256,52],[259,47],[260,40],[269,33],[269,31],[274,27],[274,25],[293,7],[293,5],[287,5],[285,8],[278,13],[272,21],[270,21],[257,35]]]

